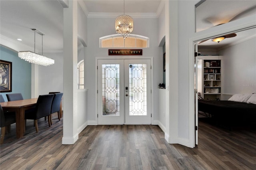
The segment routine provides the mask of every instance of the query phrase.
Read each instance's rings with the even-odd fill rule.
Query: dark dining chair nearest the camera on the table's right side
[[[38,119],[42,117],[48,117],[48,125],[50,124],[50,112],[52,106],[53,94],[50,95],[39,95],[36,107],[28,109],[25,111],[25,120],[34,120],[34,126],[36,127],[36,132],[38,132]]]

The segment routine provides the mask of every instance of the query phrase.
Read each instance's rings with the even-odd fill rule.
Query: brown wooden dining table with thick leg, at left
[[[14,111],[16,113],[16,136],[22,138],[25,133],[25,110],[36,106],[38,98],[24,99],[16,101],[1,102],[4,111]]]

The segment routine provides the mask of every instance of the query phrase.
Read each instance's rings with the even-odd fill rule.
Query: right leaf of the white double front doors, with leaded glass
[[[150,59],[125,59],[124,77],[125,123],[151,124]]]

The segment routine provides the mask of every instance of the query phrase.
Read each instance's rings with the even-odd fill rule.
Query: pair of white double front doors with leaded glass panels
[[[98,59],[98,125],[151,124],[150,59]]]

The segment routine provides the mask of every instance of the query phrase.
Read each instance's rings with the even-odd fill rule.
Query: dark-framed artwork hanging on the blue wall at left
[[[0,60],[0,93],[12,91],[12,62]]]

